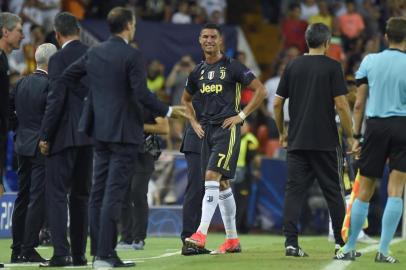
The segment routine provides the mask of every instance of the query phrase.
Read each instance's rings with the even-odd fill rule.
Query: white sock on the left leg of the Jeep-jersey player
[[[219,201],[220,183],[217,181],[205,181],[204,186],[206,191],[202,203],[202,218],[197,230],[207,234]]]

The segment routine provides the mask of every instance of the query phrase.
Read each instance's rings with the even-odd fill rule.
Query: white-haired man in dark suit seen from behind
[[[45,261],[34,249],[45,218],[45,161],[38,151],[38,141],[48,94],[48,61],[56,50],[50,43],[39,46],[36,71],[18,81],[10,93],[10,126],[16,130],[18,155],[11,263]]]

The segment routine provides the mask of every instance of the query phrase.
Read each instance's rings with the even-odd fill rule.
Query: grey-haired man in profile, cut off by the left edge
[[[0,196],[3,195],[3,170],[7,144],[7,110],[9,95],[9,68],[7,54],[20,48],[23,40],[21,18],[9,12],[0,13]]]

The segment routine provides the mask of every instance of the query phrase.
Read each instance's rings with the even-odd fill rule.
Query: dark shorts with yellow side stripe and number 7
[[[223,129],[219,125],[205,125],[202,146],[202,169],[220,173],[222,179],[235,176],[238,155],[240,154],[241,126]]]

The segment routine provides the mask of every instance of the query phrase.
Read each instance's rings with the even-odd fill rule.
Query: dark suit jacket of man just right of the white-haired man
[[[63,71],[84,55],[87,49],[79,40],[73,40],[49,60],[50,91],[41,139],[50,142],[51,153],[72,146],[92,144],[88,136],[77,131],[83,100],[89,92],[87,78],[71,83],[68,89],[58,87],[56,83]]]

